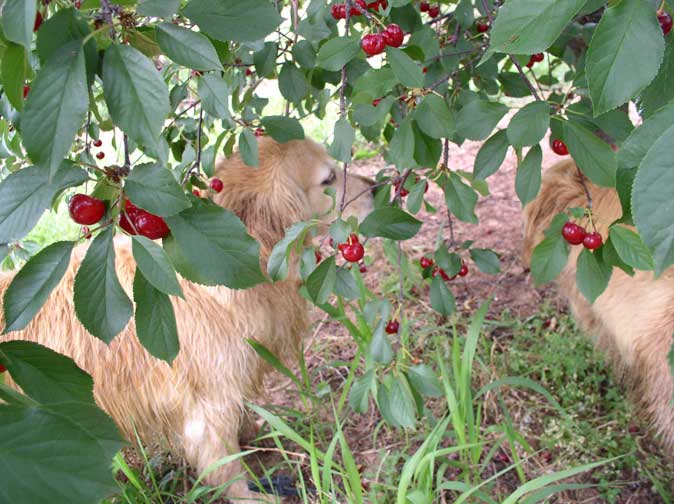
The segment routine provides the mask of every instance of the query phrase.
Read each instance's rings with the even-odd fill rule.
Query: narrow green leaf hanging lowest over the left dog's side
[[[140,268],[133,279],[133,299],[138,340],[150,354],[171,364],[180,350],[171,300],[145,279]]]

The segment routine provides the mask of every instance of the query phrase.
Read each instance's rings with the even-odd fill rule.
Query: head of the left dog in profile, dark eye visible
[[[265,257],[295,222],[335,217],[344,188],[344,173],[325,148],[312,140],[278,143],[271,138],[258,142],[259,166],[247,166],[239,154],[219,163],[216,176],[224,182],[216,203],[229,208],[246,224],[261,245]],[[359,218],[373,207],[373,181],[348,175],[345,200],[353,200],[346,216]],[[334,189],[333,197],[326,191]]]

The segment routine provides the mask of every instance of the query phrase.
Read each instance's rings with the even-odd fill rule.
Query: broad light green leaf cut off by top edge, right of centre
[[[586,0],[509,0],[499,8],[491,29],[494,51],[534,54],[559,37]]]

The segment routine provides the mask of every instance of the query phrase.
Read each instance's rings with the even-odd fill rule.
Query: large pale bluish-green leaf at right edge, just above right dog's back
[[[632,216],[641,239],[653,252],[660,275],[674,264],[674,128],[669,128],[644,156],[632,187]]]

